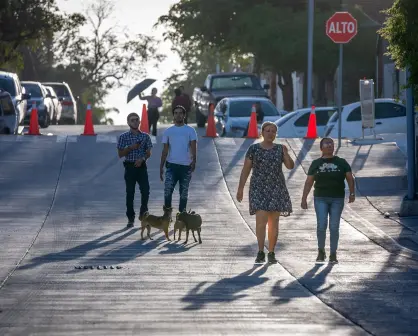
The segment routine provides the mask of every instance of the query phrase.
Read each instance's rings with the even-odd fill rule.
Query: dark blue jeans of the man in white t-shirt
[[[166,163],[164,183],[164,206],[166,208],[171,208],[174,188],[178,182],[180,193],[179,212],[186,210],[191,178],[192,169],[190,166],[184,166],[169,162]]]

